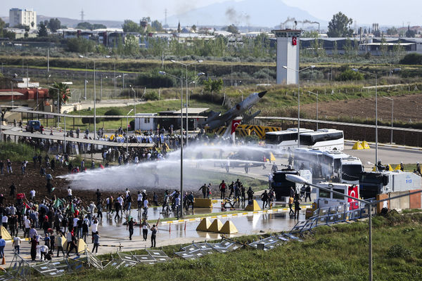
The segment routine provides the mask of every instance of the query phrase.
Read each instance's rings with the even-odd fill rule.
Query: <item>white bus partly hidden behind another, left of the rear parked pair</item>
[[[302,133],[308,132],[313,131],[300,128],[300,138],[302,138]],[[275,152],[286,152],[289,148],[294,150],[298,147],[298,128],[265,133],[265,145],[267,148],[275,150]]]

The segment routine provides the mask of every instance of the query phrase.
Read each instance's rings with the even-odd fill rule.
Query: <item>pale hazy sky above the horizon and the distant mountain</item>
[[[193,8],[226,0],[0,0],[0,15],[8,16],[10,8],[34,8],[39,15],[80,18],[83,8],[86,20],[138,21],[144,16],[163,20],[167,15],[179,14]],[[234,0],[239,1],[239,0]],[[280,0],[282,1],[282,0]],[[259,0],[257,4],[259,4]],[[289,6],[308,11],[328,22],[333,14],[342,11],[357,24],[422,25],[421,0],[283,0]],[[251,21],[253,21],[251,19]],[[217,24],[217,23],[216,23]]]

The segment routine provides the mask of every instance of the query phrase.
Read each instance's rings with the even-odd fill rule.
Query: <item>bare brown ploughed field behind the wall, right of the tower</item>
[[[394,119],[402,122],[421,122],[422,94],[410,96],[396,96],[394,98]],[[378,120],[390,122],[391,100],[378,96]],[[314,119],[316,117],[316,103],[301,105],[300,111]],[[327,117],[359,117],[375,119],[375,98],[359,100],[331,101],[318,104],[319,119]]]

